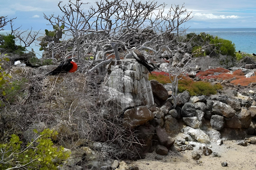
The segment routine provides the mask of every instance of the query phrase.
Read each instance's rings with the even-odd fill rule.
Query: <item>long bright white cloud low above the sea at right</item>
[[[214,15],[214,14],[202,14],[202,13],[195,13],[192,14],[194,16],[195,19],[199,19],[199,20],[209,20],[209,19],[238,19],[238,18],[242,18],[240,16],[237,15]]]

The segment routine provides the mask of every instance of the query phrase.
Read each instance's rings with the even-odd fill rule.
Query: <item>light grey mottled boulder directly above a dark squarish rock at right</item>
[[[225,118],[231,118],[235,116],[236,113],[236,111],[232,109],[231,106],[220,101],[214,101],[214,104],[212,106],[212,112],[224,116]]]

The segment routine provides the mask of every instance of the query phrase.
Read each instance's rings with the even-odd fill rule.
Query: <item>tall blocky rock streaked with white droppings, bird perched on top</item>
[[[135,59],[112,61],[102,103],[111,105],[111,111],[122,114],[126,108],[154,105],[148,70]],[[149,108],[148,107],[148,108]]]

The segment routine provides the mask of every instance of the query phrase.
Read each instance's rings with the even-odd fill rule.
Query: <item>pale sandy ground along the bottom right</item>
[[[212,151],[221,157],[212,155],[202,157],[195,161],[191,157],[192,150],[182,152],[170,151],[167,156],[161,156],[162,160],[156,160],[155,152],[147,153],[145,159],[131,162],[140,170],[256,170],[256,145],[237,145],[235,141],[224,141],[221,146],[212,145]],[[221,162],[227,162],[227,167],[222,167]]]

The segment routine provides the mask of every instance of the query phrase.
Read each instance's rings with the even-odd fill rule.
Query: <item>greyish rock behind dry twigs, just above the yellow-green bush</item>
[[[45,128],[47,127],[43,122],[34,124],[23,133],[23,137],[27,142],[30,142],[32,139],[36,139],[39,136],[38,133],[34,132],[34,129],[36,129],[38,132],[42,132]]]

